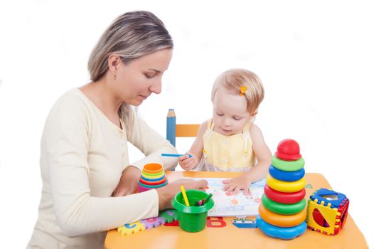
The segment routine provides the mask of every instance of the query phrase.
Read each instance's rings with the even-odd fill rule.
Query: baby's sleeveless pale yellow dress
[[[250,122],[241,133],[225,136],[213,131],[213,120],[203,134],[203,157],[196,171],[249,171],[255,164]]]

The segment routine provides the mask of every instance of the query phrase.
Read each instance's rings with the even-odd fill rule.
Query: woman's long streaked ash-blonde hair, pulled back
[[[126,64],[165,48],[173,48],[173,39],[157,16],[149,11],[127,12],[113,21],[92,50],[88,60],[90,78],[95,82],[107,73],[111,54],[119,55]],[[134,121],[130,108],[124,103],[119,110],[125,124]]]

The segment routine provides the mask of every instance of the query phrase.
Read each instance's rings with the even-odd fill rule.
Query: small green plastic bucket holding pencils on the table
[[[208,211],[213,208],[214,201],[212,198],[202,206],[195,206],[196,201],[207,198],[208,194],[199,190],[187,190],[186,195],[190,206],[184,203],[181,192],[174,196],[171,205],[178,210],[179,227],[186,232],[199,232],[205,228]]]

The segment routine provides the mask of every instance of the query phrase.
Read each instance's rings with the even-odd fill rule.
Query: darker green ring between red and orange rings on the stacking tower
[[[265,194],[262,195],[262,205],[265,206],[269,211],[273,213],[284,214],[286,216],[291,216],[296,213],[300,213],[304,210],[306,206],[305,199],[302,199],[299,202],[292,203],[292,204],[283,204],[276,201],[272,201]]]

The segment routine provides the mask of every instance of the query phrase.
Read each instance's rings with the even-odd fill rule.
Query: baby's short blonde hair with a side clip
[[[233,94],[240,95],[240,89],[245,86],[245,100],[247,100],[247,110],[250,115],[257,113],[257,108],[264,99],[264,87],[260,78],[250,70],[235,68],[227,70],[215,79],[212,89],[212,102],[218,88],[225,88]]]

